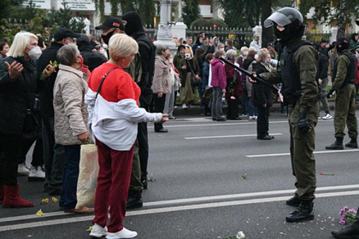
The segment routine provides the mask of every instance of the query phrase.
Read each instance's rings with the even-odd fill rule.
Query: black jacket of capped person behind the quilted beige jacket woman
[[[38,72],[38,91],[40,94],[40,112],[42,115],[53,116],[54,108],[52,105],[53,100],[53,88],[55,84],[55,79],[57,76],[58,69],[56,72],[53,72],[47,79],[40,80],[40,75],[44,69],[49,65],[49,62],[57,61],[57,51],[62,47],[62,44],[51,43],[51,46],[46,48],[41,54],[37,62],[37,72]]]

